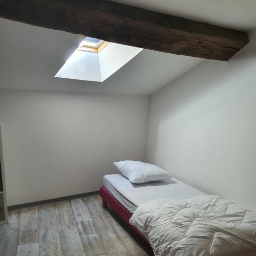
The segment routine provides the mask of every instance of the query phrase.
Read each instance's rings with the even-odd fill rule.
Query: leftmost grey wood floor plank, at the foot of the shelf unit
[[[0,255],[15,256],[18,230],[20,222],[20,209],[9,211],[7,224],[0,225]]]

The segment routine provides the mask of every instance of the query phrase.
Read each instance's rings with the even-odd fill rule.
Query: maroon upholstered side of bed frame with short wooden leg
[[[102,207],[106,208],[109,205],[143,239],[143,241],[150,246],[150,243],[148,243],[138,229],[129,223],[129,220],[132,217],[131,212],[120,204],[104,186],[100,187],[99,195],[102,199]]]

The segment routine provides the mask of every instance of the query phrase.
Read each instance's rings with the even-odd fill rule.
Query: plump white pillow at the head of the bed
[[[125,177],[136,184],[172,178],[165,170],[150,163],[121,161],[114,164]]]

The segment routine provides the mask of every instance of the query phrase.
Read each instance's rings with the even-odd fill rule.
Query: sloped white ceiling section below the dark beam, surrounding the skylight
[[[143,50],[104,82],[55,78],[84,36],[0,18],[0,88],[150,95],[202,59]]]

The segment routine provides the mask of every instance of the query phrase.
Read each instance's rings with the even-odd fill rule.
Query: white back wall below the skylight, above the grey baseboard
[[[148,98],[0,90],[8,205],[95,191],[145,160]]]

